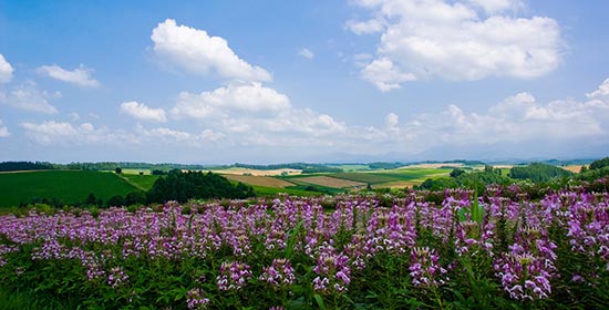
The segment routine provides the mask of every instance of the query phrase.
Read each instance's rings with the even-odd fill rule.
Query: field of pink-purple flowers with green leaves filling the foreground
[[[443,195],[442,203],[410,193],[2,216],[0,288],[66,309],[609,304],[607,192]]]

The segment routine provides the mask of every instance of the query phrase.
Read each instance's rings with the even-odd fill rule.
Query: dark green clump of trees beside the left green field
[[[185,203],[188,199],[209,198],[247,198],[252,197],[254,189],[242,183],[234,185],[227,178],[213,173],[202,172],[182,173],[171,170],[154,183],[146,194],[149,203],[177,200]]]

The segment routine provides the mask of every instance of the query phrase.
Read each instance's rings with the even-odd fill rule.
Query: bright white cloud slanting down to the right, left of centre
[[[159,23],[152,33],[154,52],[173,64],[198,74],[217,74],[221,79],[267,82],[270,74],[240,59],[220,37],[205,30],[177,25],[173,19]]]

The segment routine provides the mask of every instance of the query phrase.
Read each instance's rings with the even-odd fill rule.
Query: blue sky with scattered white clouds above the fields
[[[608,1],[0,0],[0,161],[609,155]]]

